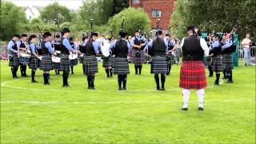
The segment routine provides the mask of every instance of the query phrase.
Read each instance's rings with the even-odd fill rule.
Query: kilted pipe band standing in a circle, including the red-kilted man
[[[135,74],[142,74],[142,64],[145,62],[145,54],[151,56],[151,70],[154,74],[156,90],[165,90],[166,75],[170,74],[171,66],[177,61],[175,53],[176,41],[169,34],[164,35],[162,30],[157,30],[155,38],[146,38],[146,35],[135,30],[134,37],[126,39],[125,30],[120,30],[119,38],[98,38],[98,34],[91,30],[90,34],[83,35],[82,44],[77,39],[70,38],[70,30],[63,28],[61,35],[57,35],[52,41],[52,34],[45,32],[39,36],[14,34],[8,43],[10,52],[11,72],[13,78],[17,77],[20,67],[22,77],[27,77],[26,66],[31,69],[31,82],[35,80],[38,68],[43,71],[44,85],[50,85],[50,70],[55,74],[62,71],[62,86],[69,86],[68,78],[74,74],[74,66],[82,63],[83,74],[87,77],[88,89],[94,90],[95,74],[98,73],[98,54],[102,54],[102,66],[106,70],[106,76],[111,78],[118,75],[118,90],[126,90],[127,74],[130,74],[127,55],[130,54],[134,63]],[[198,110],[203,110],[203,98],[206,88],[205,66],[208,66],[210,77],[216,73],[214,85],[219,85],[220,74],[227,78],[227,83],[233,82],[232,53],[235,46],[232,42],[232,34],[210,34],[202,38],[196,26],[187,27],[188,36],[182,38],[182,67],[180,70],[179,86],[182,88],[182,110],[188,110],[190,90],[197,90]],[[100,42],[98,42],[100,39]],[[244,44],[245,46],[247,45]],[[249,45],[248,45],[249,46]],[[160,85],[161,84],[161,85]]]

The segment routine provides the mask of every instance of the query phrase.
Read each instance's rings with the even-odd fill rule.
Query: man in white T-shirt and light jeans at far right
[[[250,34],[246,34],[246,38],[242,40],[242,50],[243,50],[243,65],[250,65]]]

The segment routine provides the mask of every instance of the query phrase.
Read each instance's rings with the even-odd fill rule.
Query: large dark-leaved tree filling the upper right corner
[[[170,18],[171,32],[179,38],[186,35],[186,26],[196,25],[201,30],[213,32],[230,32],[235,24],[239,35],[248,30],[255,31],[254,0],[177,0],[175,10]]]

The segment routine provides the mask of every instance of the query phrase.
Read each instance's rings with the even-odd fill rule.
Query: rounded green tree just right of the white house
[[[46,6],[41,12],[41,17],[45,22],[54,22],[54,19],[60,23],[71,20],[70,10],[66,6],[60,6],[58,2]]]

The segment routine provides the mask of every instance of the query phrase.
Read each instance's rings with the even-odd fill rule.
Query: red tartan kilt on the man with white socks
[[[205,65],[202,61],[182,62],[179,87],[183,89],[203,89],[207,86]]]

